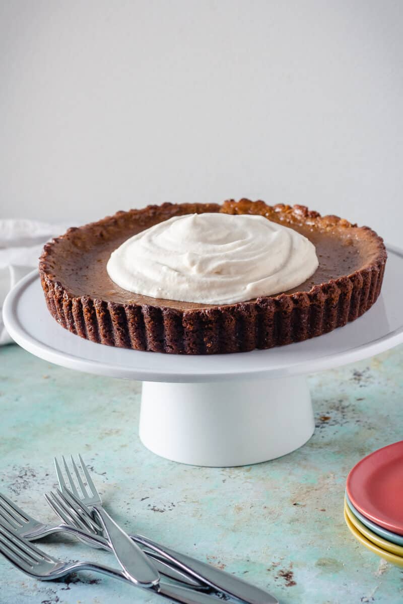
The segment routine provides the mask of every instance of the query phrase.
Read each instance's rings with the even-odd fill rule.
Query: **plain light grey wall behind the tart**
[[[402,65],[402,0],[2,0],[0,216],[248,196],[401,245]]]

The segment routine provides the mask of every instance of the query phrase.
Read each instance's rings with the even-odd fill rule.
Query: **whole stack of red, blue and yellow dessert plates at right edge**
[[[403,567],[403,441],[374,451],[353,467],[344,519],[364,547]]]

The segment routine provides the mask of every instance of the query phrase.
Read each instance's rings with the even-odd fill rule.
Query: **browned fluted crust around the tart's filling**
[[[187,205],[187,204],[186,204]],[[204,204],[198,204],[201,207]],[[176,213],[177,204],[147,206],[143,210],[118,212],[82,227],[102,227],[124,215],[139,217]],[[376,244],[376,257],[350,275],[315,285],[308,292],[261,297],[250,302],[205,309],[180,310],[150,304],[114,303],[83,295],[73,297],[53,277],[48,262],[54,244],[76,229],[45,245],[39,271],[48,309],[70,332],[92,342],[110,346],[185,355],[247,352],[300,342],[330,332],[363,315],[381,291],[387,252],[381,237],[367,226],[360,228],[338,216],[320,216],[305,206],[266,205],[262,201],[230,200],[222,206],[208,205],[208,211],[248,213],[251,208],[269,217],[274,213],[285,223],[309,224],[320,230],[355,228],[363,238]],[[255,213],[255,212],[254,212]],[[166,219],[165,216],[164,219]]]

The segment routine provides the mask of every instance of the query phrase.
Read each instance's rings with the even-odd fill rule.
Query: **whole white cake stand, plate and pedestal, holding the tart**
[[[367,358],[403,342],[403,251],[388,248],[382,295],[334,332],[270,350],[165,355],[86,341],[60,327],[37,271],[4,303],[15,341],[46,361],[142,380],[140,438],[151,451],[199,466],[239,466],[285,455],[314,432],[305,374]]]

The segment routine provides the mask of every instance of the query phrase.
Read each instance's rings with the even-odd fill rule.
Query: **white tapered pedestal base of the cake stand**
[[[305,377],[172,384],[144,382],[140,439],[195,466],[244,466],[298,449],[314,432]]]

